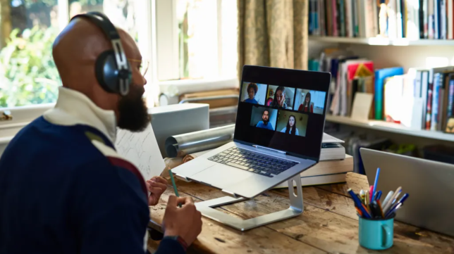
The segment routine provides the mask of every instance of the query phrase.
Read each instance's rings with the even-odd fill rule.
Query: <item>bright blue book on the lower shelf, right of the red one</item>
[[[387,77],[403,75],[402,67],[386,68],[375,70],[375,119],[384,120],[383,118],[383,89]]]

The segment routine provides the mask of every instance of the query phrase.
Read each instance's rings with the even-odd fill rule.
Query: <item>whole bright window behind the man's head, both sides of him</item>
[[[70,18],[88,11],[104,12],[136,40],[152,63],[151,87],[236,76],[234,0],[0,0],[0,108],[56,101],[51,45]]]

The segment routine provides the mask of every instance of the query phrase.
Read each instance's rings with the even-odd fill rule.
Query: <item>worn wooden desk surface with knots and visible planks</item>
[[[177,181],[180,196],[195,202],[225,196],[221,191],[197,183]],[[302,215],[241,232],[202,217],[202,233],[192,243],[190,253],[454,253],[454,238],[417,227],[394,223],[394,246],[381,252],[367,250],[358,243],[358,218],[347,189],[368,189],[367,179],[349,173],[346,184],[303,188]],[[159,229],[164,216],[169,187],[159,205],[150,207],[150,226]],[[249,219],[288,208],[288,189],[266,192],[254,200],[217,208],[235,217]]]

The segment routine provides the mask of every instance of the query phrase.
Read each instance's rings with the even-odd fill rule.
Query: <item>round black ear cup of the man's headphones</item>
[[[109,93],[118,93],[118,68],[113,50],[104,51],[94,65],[96,78],[101,87]]]

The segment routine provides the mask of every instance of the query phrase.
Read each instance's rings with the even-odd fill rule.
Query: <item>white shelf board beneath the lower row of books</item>
[[[420,129],[410,129],[403,125],[396,124],[394,122],[384,122],[380,120],[352,120],[351,118],[337,116],[337,115],[326,115],[326,121],[336,122],[343,125],[351,125],[356,127],[363,127],[365,129],[376,129],[383,132],[393,132],[398,134],[405,134],[409,136],[420,136],[427,139],[439,139],[444,141],[454,141],[454,134],[446,134],[437,131],[428,131]]]

